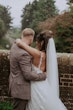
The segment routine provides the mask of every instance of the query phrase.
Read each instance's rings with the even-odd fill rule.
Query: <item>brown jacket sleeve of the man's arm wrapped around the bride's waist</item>
[[[29,54],[24,53],[20,56],[19,65],[26,80],[41,81],[46,79],[46,74],[37,74],[35,71],[32,71],[32,62]]]

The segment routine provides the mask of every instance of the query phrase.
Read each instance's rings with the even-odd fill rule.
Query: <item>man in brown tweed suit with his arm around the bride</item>
[[[27,45],[33,42],[35,32],[30,28],[22,31],[21,40]],[[10,51],[9,93],[14,98],[13,110],[25,110],[31,98],[31,81],[45,80],[44,73],[32,71],[32,56],[13,44]]]

